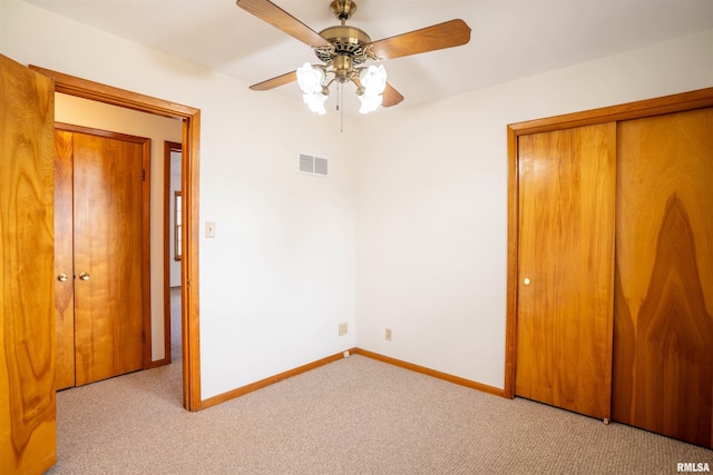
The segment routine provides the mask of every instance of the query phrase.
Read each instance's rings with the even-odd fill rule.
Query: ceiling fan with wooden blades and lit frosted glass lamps
[[[373,111],[379,106],[395,106],[403,100],[403,96],[387,82],[382,65],[363,66],[367,61],[401,58],[470,41],[470,27],[463,20],[451,20],[372,41],[363,30],[346,26],[346,20],[356,10],[356,3],[352,0],[332,1],[330,9],[341,24],[329,27],[319,33],[268,0],[237,0],[236,3],[243,10],[312,47],[322,62],[305,63],[296,71],[250,88],[264,91],[297,81],[305,103],[318,113],[326,112],[324,102],[329,97],[329,87],[334,81],[338,85],[353,82],[356,86],[362,113]]]

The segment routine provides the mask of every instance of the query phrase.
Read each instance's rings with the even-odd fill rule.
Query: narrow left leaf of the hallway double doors
[[[56,389],[75,386],[75,245],[72,133],[55,131],[55,285],[57,326]]]

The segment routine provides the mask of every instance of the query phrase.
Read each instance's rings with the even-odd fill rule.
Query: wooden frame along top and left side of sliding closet
[[[507,304],[505,320],[505,385],[504,396],[515,397],[516,346],[517,346],[517,288],[518,288],[518,236],[519,236],[519,159],[518,137],[549,132],[595,123],[638,119],[663,113],[681,112],[713,106],[713,88],[682,92],[656,99],[646,99],[619,106],[604,107],[584,112],[567,113],[545,119],[510,123],[508,136],[508,257]]]

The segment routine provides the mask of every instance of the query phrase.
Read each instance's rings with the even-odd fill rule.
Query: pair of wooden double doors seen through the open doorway
[[[56,140],[60,389],[144,367],[145,201],[141,144],[61,130]]]

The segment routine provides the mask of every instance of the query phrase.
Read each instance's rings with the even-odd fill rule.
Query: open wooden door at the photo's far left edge
[[[55,96],[0,55],[0,473],[56,461]]]

